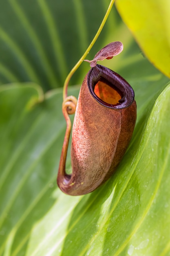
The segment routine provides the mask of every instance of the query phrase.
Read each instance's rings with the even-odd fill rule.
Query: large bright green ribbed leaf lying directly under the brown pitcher
[[[65,130],[61,90],[43,100],[33,84],[1,89],[1,255],[169,252],[170,86],[155,101],[165,82],[161,74],[131,81],[139,107],[130,147],[115,175],[80,197],[55,182]]]

